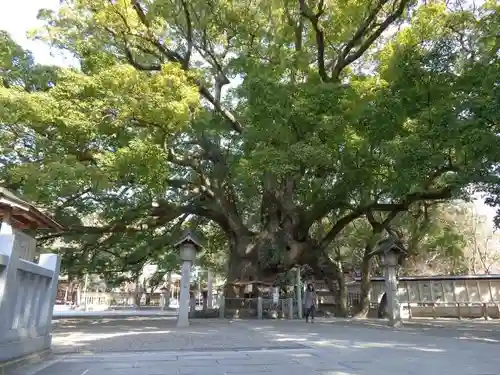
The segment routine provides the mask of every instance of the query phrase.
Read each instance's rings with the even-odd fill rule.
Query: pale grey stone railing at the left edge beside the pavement
[[[9,225],[0,230],[0,362],[49,349],[60,258],[23,260],[27,241]],[[32,242],[35,246],[35,242]],[[32,253],[32,249],[29,250]]]

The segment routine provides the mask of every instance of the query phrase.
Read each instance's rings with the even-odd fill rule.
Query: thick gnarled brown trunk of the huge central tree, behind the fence
[[[288,197],[285,192],[293,190],[292,185],[283,188],[283,197]],[[346,216],[345,220],[339,221],[334,232],[325,235],[326,240],[318,242],[308,237],[307,231],[300,229],[301,217],[293,209],[293,200],[284,199],[281,204],[276,202],[276,194],[271,194],[276,192],[275,188],[275,184],[270,183],[264,189],[262,232],[252,233],[240,229],[238,225],[233,225],[228,230],[230,249],[224,290],[226,308],[241,308],[241,298],[244,297],[244,288],[248,282],[273,282],[281,273],[295,265],[307,264],[316,267],[316,275],[324,279],[334,292],[337,316],[347,316],[348,291],[341,264],[332,262],[320,249],[334,238],[331,233],[340,233],[358,214]]]

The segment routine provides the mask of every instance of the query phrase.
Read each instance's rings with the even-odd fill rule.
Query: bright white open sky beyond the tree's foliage
[[[41,8],[57,10],[60,0],[13,0],[2,6],[0,12],[0,29],[10,33],[12,38],[23,48],[30,50],[40,64],[70,65],[71,59],[57,53],[48,45],[40,41],[27,38],[27,32],[42,26],[36,16]],[[484,205],[482,199],[476,201],[478,214],[493,218],[495,210]]]

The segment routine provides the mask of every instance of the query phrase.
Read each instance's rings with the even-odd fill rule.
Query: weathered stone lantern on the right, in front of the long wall
[[[402,321],[397,296],[398,280],[396,270],[401,264],[401,261],[407,256],[408,252],[397,237],[390,235],[388,238],[377,242],[372,254],[379,257],[380,263],[382,267],[384,267],[389,325],[392,327],[399,326]]]

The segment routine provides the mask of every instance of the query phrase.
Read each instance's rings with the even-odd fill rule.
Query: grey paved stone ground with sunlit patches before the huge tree
[[[499,331],[496,322],[67,320],[54,327],[53,358],[12,375],[494,375]]]

